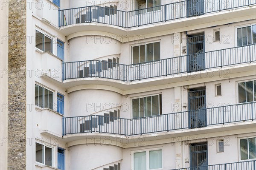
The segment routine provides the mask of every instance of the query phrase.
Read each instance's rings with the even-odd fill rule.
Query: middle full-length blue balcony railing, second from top
[[[256,61],[256,44],[125,65],[100,60],[63,63],[63,80],[106,78],[131,82]]]

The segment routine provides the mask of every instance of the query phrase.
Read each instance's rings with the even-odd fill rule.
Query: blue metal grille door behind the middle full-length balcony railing
[[[204,34],[187,38],[187,53],[188,71],[204,70]]]

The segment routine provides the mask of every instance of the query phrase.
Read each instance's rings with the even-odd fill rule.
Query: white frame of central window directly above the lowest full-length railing
[[[160,99],[160,95],[161,95],[161,99]],[[145,105],[144,105],[145,104],[145,97],[152,97],[152,96],[158,96],[158,112],[159,112],[159,114],[158,115],[151,115],[151,116],[160,116],[160,115],[163,114],[162,113],[162,104],[163,104],[163,102],[162,102],[162,93],[145,95],[145,96],[137,96],[137,97],[132,97],[131,98],[131,119],[139,119],[140,118],[140,117],[133,118],[133,109],[134,109],[133,108],[133,104],[132,104],[133,99],[141,99],[141,98],[143,98],[143,112],[144,112],[144,115],[143,115],[142,118],[144,118],[144,117],[149,117],[149,116],[145,116]],[[139,107],[140,107],[140,104],[139,104]],[[151,103],[151,111],[152,111],[152,103]]]

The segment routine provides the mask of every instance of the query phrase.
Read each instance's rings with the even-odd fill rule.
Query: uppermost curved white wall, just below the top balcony
[[[65,62],[119,57],[121,42],[111,36],[88,35],[69,40]]]

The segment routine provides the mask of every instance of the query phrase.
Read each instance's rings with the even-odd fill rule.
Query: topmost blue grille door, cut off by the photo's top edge
[[[187,13],[188,17],[204,14],[204,0],[188,0]]]

